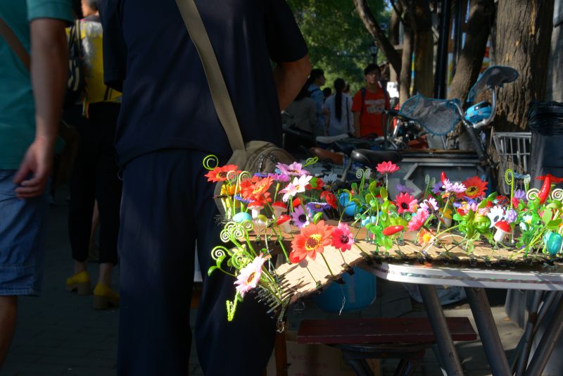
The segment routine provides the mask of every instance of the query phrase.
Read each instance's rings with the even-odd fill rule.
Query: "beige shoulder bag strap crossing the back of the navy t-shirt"
[[[176,4],[180,13],[182,13],[191,42],[196,46],[199,58],[203,64],[213,105],[224,131],[227,133],[229,144],[233,151],[244,150],[244,141],[239,123],[234,114],[229,92],[227,91],[227,85],[224,82],[219,63],[217,63],[213,46],[211,46],[207,32],[205,32],[205,26],[201,20],[198,8],[194,0],[176,0]]]

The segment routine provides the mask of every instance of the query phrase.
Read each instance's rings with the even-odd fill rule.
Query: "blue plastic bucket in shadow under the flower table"
[[[354,268],[354,274],[345,273],[342,276],[345,284],[332,282],[324,292],[315,297],[315,303],[323,311],[339,312],[343,298],[346,303],[342,311],[352,311],[365,308],[376,298],[376,278],[370,272]]]

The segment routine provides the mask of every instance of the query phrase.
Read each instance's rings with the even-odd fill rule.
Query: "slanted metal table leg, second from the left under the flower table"
[[[469,300],[469,306],[483,343],[483,348],[494,376],[512,375],[508,366],[505,349],[502,348],[498,330],[491,313],[491,306],[488,305],[488,298],[485,290],[481,288],[465,287],[465,293]]]

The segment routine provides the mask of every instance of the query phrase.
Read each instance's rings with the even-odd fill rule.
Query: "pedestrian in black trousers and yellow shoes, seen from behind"
[[[121,182],[113,141],[120,105],[120,93],[103,84],[102,27],[98,0],[82,0],[78,29],[84,51],[87,87],[82,103],[65,112],[65,119],[80,134],[80,144],[70,177],[68,232],[74,259],[73,275],[66,281],[68,291],[89,295],[90,275],[86,261],[92,235],[94,203],[100,223],[99,275],[94,288],[94,308],[119,305],[119,294],[111,289],[111,273],[118,263],[119,209]]]

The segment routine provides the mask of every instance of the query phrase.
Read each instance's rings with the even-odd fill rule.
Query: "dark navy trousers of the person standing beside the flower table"
[[[185,376],[194,247],[203,275],[196,345],[208,376],[258,376],[274,346],[275,321],[248,294],[227,322],[225,301],[234,279],[207,270],[210,251],[223,244],[213,184],[203,176],[206,153],[169,150],[135,158],[125,167],[120,238],[118,375]],[[224,162],[224,161],[223,161]]]

